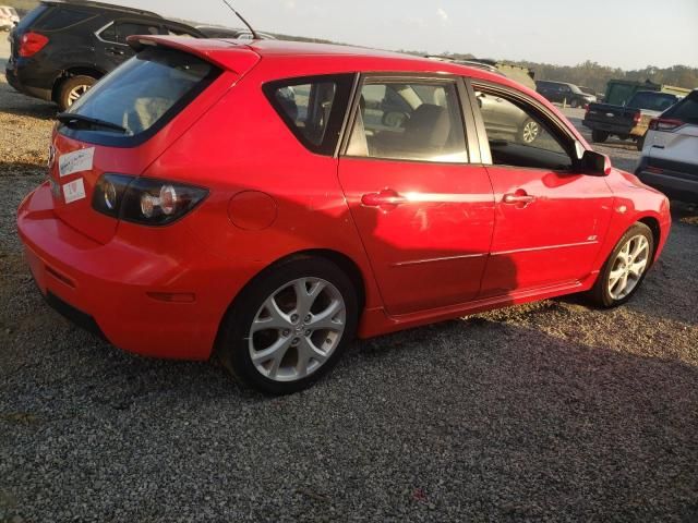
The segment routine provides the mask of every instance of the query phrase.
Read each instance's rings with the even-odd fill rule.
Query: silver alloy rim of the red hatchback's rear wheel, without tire
[[[275,381],[302,379],[327,362],[346,321],[345,301],[335,285],[320,278],[290,281],[254,316],[248,336],[252,364]]]

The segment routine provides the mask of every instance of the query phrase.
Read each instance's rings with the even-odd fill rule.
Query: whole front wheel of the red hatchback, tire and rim
[[[635,223],[618,240],[603,264],[599,278],[590,291],[591,301],[602,308],[611,308],[630,300],[645,280],[647,271],[652,265],[653,255],[654,238],[652,231],[645,223]],[[625,269],[628,260],[630,266],[636,267],[635,271]],[[639,264],[643,264],[641,269]],[[622,276],[618,277],[618,273]],[[621,287],[624,278],[625,285]]]

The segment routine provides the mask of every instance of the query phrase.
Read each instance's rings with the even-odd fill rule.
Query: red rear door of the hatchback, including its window
[[[371,75],[354,102],[339,180],[393,315],[480,290],[494,202],[462,93],[458,80]]]

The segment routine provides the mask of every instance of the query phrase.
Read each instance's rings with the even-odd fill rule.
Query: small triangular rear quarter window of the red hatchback
[[[353,74],[312,76],[272,82],[264,94],[290,131],[306,148],[333,155]]]

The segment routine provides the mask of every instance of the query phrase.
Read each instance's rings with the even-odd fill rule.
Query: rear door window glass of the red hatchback
[[[348,156],[468,161],[453,82],[369,81],[361,88]]]

